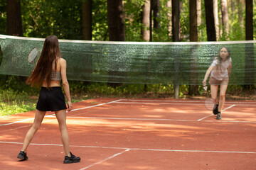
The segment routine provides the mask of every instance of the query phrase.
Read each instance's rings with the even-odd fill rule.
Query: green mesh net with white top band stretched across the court
[[[0,35],[0,74],[28,76],[28,54],[44,39]],[[59,40],[70,80],[129,84],[202,84],[206,70],[228,47],[232,58],[229,84],[256,84],[256,41],[235,42],[95,42]]]

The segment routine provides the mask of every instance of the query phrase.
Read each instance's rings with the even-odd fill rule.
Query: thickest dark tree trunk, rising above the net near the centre
[[[107,0],[110,41],[124,41],[124,8],[122,0]]]

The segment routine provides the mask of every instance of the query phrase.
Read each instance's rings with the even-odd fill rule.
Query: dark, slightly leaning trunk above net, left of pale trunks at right
[[[216,41],[216,30],[213,16],[213,0],[205,0],[207,40]]]

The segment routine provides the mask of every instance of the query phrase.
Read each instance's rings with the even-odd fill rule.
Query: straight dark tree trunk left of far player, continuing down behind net
[[[191,42],[198,41],[198,28],[197,28],[197,8],[196,8],[197,0],[189,1],[189,35]],[[194,72],[190,73],[191,84],[197,84],[197,70],[198,70],[198,57],[195,55],[196,47],[191,47],[191,70]],[[188,89],[188,94],[193,96],[198,94],[198,85],[190,85]]]

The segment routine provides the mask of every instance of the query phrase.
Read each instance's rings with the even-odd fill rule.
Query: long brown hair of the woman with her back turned
[[[57,61],[60,57],[58,38],[55,35],[49,35],[43,44],[36,68],[26,80],[26,84],[41,86],[42,81],[46,80],[47,88],[49,88],[51,72],[57,69]]]

